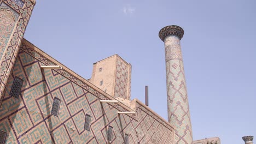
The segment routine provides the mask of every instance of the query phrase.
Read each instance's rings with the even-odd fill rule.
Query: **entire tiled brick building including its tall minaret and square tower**
[[[34,0],[0,0],[0,143],[219,143],[193,141],[179,26],[164,41],[168,121],[131,100],[131,64],[94,63],[86,80],[23,36]],[[164,71],[163,71],[164,74]]]

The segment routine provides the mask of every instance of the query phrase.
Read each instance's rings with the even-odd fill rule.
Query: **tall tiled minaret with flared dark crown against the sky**
[[[176,131],[176,143],[193,142],[187,87],[180,40],[184,31],[179,26],[166,26],[159,32],[165,43],[168,122]]]

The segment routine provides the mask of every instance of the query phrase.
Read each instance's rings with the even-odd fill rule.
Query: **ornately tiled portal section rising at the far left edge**
[[[24,3],[22,7],[20,7],[22,2],[17,2],[0,0],[0,106],[34,8],[34,2],[30,0],[22,1]]]

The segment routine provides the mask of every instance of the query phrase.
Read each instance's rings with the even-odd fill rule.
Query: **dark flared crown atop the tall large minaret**
[[[179,37],[179,40],[181,40],[183,37],[183,34],[184,34],[184,30],[179,26],[175,26],[175,25],[166,26],[160,30],[159,38],[162,41],[165,41],[165,38],[168,35],[177,35],[177,37]]]

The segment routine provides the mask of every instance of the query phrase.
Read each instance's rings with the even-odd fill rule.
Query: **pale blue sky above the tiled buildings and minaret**
[[[194,140],[256,137],[256,1],[37,0],[25,38],[89,79],[92,64],[117,53],[132,65],[132,99],[167,119],[164,43],[178,25]],[[256,142],[256,140],[255,140]]]

